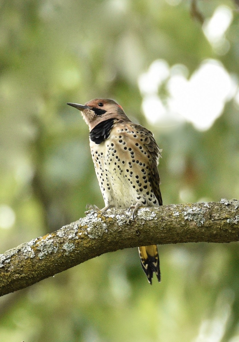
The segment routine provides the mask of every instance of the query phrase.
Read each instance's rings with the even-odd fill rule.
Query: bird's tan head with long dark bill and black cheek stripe
[[[130,122],[123,108],[117,102],[109,98],[95,98],[84,105],[77,103],[67,103],[81,111],[85,122],[91,131],[98,123],[108,119],[118,119]]]

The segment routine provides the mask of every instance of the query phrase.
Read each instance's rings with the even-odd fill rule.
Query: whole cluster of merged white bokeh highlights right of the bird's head
[[[205,60],[189,79],[187,75],[186,66],[169,68],[158,60],[139,77],[142,109],[151,124],[168,127],[184,120],[198,130],[207,130],[236,94],[237,82],[217,60]],[[167,90],[164,98],[158,91],[162,85]]]

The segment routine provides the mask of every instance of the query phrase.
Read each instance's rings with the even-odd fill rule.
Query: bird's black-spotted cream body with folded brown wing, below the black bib
[[[138,207],[161,205],[157,187],[160,150],[152,133],[134,123],[114,121],[108,139],[100,144],[90,139],[105,207],[130,208],[136,203]]]

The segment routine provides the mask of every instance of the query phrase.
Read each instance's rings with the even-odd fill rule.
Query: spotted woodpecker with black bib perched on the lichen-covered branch
[[[133,123],[114,100],[95,98],[84,105],[67,103],[81,111],[89,126],[92,160],[105,207],[132,210],[163,205],[158,171],[161,149],[153,133]],[[138,247],[142,269],[152,284],[161,280],[156,245]]]

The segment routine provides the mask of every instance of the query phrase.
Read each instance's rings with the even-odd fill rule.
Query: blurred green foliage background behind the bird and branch
[[[238,78],[235,3],[197,5],[207,19],[221,4],[234,15],[223,55],[185,0],[0,2],[0,205],[13,222],[0,228],[0,252],[77,220],[87,203],[104,206],[88,128],[66,102],[113,98],[154,132],[164,204],[238,197],[238,104],[228,102],[207,131],[189,123],[164,131],[144,117],[137,83],[158,58],[190,74],[215,58]],[[162,283],[152,287],[132,249],[1,298],[0,341],[239,341],[238,244],[159,251]]]

